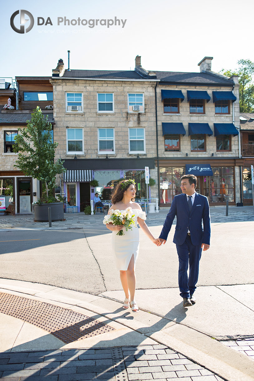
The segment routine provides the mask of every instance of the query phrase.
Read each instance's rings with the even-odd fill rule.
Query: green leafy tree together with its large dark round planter
[[[31,120],[27,120],[27,127],[18,128],[19,133],[13,145],[13,151],[18,153],[14,166],[26,176],[44,182],[46,186],[46,196],[33,203],[35,221],[48,221],[48,207],[51,208],[52,221],[64,217],[63,202],[48,195],[49,189],[55,187],[56,174],[66,171],[61,159],[54,162],[58,143],[52,141],[51,130],[48,115],[44,117],[42,110],[37,106]]]

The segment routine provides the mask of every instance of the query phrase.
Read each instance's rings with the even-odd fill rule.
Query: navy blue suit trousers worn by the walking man
[[[196,290],[198,282],[199,261],[201,258],[201,244],[195,246],[191,242],[190,235],[187,234],[182,245],[176,245],[179,260],[178,285],[182,298],[190,298]],[[189,277],[187,274],[190,264]]]

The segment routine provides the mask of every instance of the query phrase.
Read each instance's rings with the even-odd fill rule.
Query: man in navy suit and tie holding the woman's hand
[[[178,284],[183,298],[183,307],[196,303],[193,295],[198,282],[201,251],[209,249],[211,225],[207,197],[195,192],[197,178],[194,174],[181,177],[182,194],[174,197],[164,222],[159,239],[165,245],[175,216],[177,224],[173,242],[177,247],[179,260]],[[202,224],[203,220],[203,224]],[[187,275],[190,264],[189,277]]]

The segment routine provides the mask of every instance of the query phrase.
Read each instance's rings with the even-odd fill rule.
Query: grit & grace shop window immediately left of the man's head
[[[172,203],[177,194],[181,194],[181,176],[184,168],[160,168],[160,201],[162,204]]]

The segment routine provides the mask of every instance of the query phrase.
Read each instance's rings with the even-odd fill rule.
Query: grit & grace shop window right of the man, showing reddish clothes
[[[234,201],[234,171],[233,167],[212,167],[213,176],[210,180],[211,202]]]

